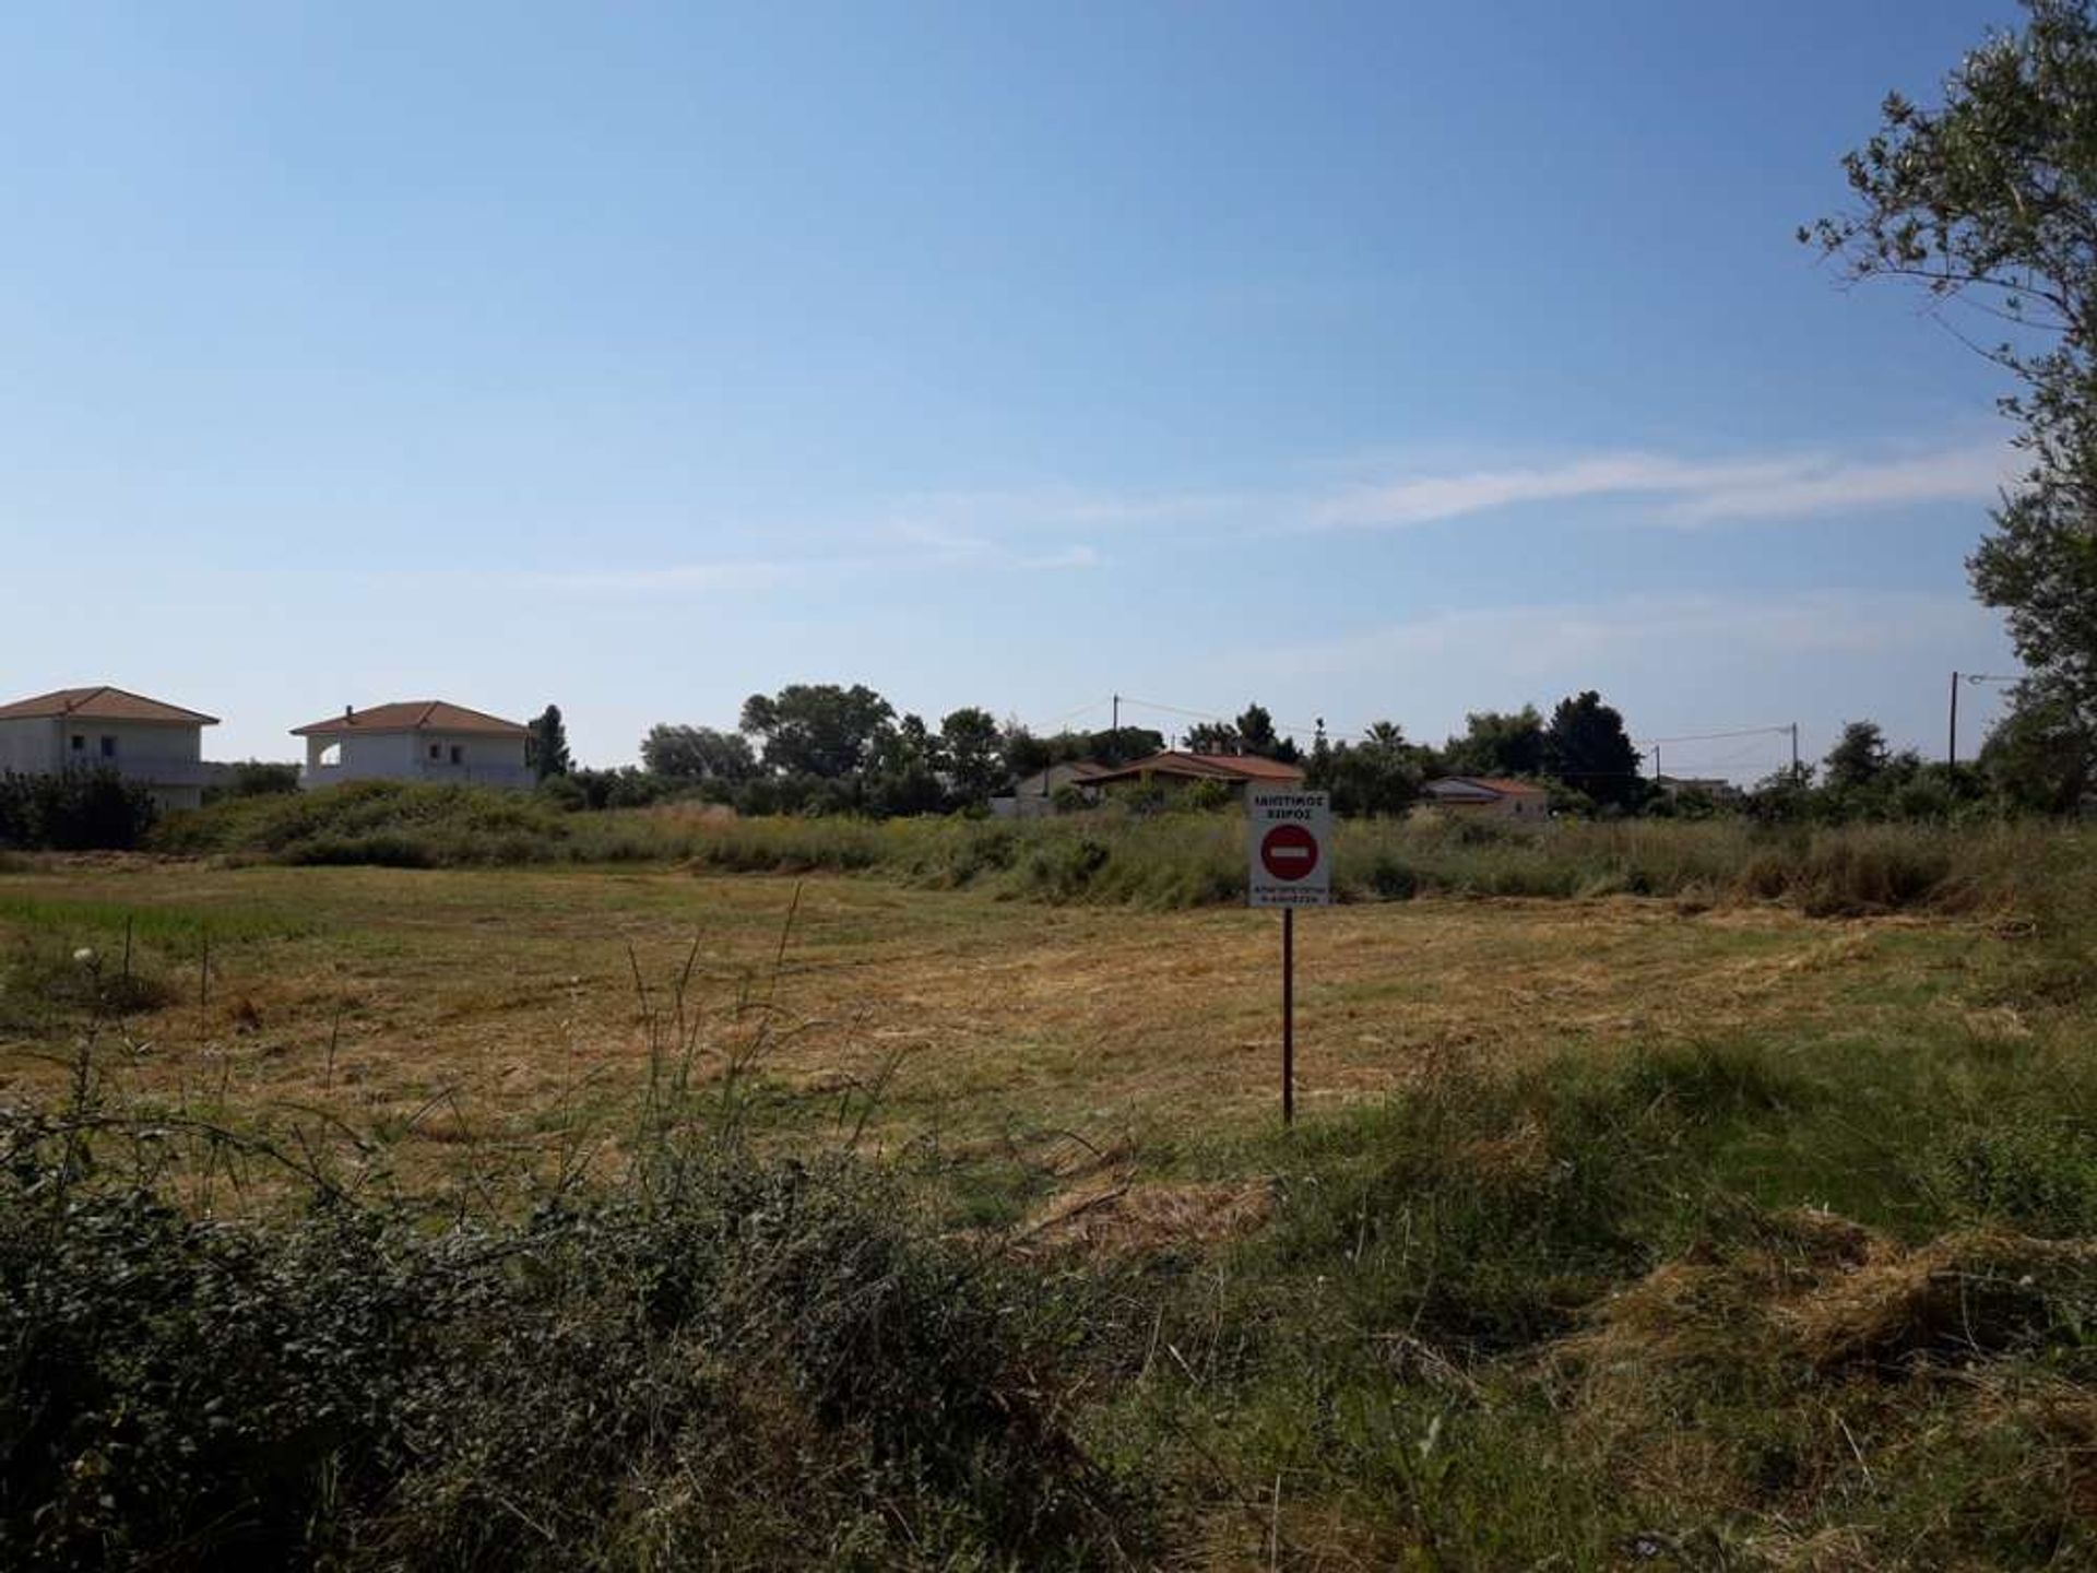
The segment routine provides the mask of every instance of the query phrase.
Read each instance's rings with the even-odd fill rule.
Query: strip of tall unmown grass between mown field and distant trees
[[[1814,914],[1973,910],[2089,885],[2091,835],[2051,824],[1766,831],[1713,822],[1560,822],[1537,828],[1434,816],[1338,831],[1340,900],[1453,896],[1669,896],[1780,900]],[[1048,820],[751,818],[648,807],[560,814],[468,786],[361,782],[218,803],[170,818],[166,852],[289,864],[440,868],[520,862],[663,862],[723,872],[881,872],[927,889],[986,889],[1051,904],[1151,908],[1244,900],[1235,812]]]

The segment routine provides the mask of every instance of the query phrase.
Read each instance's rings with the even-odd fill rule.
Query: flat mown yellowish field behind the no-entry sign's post
[[[1250,1130],[1277,1107],[1271,912],[1044,908],[661,866],[105,860],[0,879],[15,952],[92,948],[115,969],[126,923],[134,971],[166,986],[166,1003],[103,1028],[126,1091],[325,1112],[388,1135],[407,1168],[476,1143],[528,1151],[564,1114],[629,1103],[650,1013],[677,1015],[679,979],[700,1078],[761,1032],[753,1070],[809,1109],[881,1082],[889,1145],[1076,1133],[1145,1151]],[[1329,908],[1298,927],[1300,1109],[1315,1120],[1436,1068],[1560,1051],[1778,1030],[1829,1053],[1856,1036],[2015,1034],[2015,1013],[1975,996],[2003,948],[1984,923],[1636,898]],[[50,1021],[0,1007],[0,1095],[67,1076]]]

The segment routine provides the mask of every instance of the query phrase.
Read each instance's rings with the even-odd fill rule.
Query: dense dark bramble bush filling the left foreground
[[[1038,1567],[1141,1529],[1034,1359],[1053,1296],[864,1168],[709,1143],[434,1233],[325,1183],[229,1225],[88,1124],[0,1116],[8,1567]]]

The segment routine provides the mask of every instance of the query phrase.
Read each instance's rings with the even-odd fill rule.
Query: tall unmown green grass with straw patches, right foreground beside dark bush
[[[1860,1569],[2082,1565],[2093,1086],[2080,1057],[1715,1042],[1210,1154],[1275,1175],[1275,1223],[1118,1288],[1158,1311],[1095,1351],[1093,1435],[1225,1516],[1281,1481],[1283,1546],[1338,1565],[1772,1567],[1816,1533]],[[1824,1258],[1854,1225],[1881,1273]],[[1952,1242],[1923,1258],[1950,1319],[1902,1240]]]

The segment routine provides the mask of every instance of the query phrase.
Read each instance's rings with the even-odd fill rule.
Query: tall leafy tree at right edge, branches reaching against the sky
[[[2005,612],[2032,701],[2097,724],[2097,27],[2087,0],[2024,0],[1923,109],[1889,94],[1843,159],[1856,210],[1799,231],[1852,279],[1975,308],[1975,348],[2028,468],[1967,560]],[[2005,329],[2007,325],[2007,329]]]

